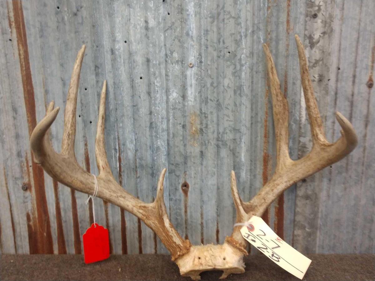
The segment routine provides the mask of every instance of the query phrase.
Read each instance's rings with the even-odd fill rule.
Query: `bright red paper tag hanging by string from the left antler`
[[[92,224],[82,237],[85,263],[108,259],[110,256],[108,229],[97,223],[95,226]]]

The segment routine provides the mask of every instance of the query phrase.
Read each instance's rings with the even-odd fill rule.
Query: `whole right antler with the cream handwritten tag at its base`
[[[276,169],[272,178],[249,202],[243,202],[238,196],[236,179],[232,171],[231,188],[237,209],[237,222],[247,221],[252,215],[261,216],[267,207],[291,185],[341,160],[357,145],[357,136],[353,126],[340,112],[336,112],[336,119],[342,129],[341,138],[334,143],[327,141],[309,77],[305,51],[299,37],[296,35],[295,38],[313,147],[305,157],[296,161],[291,160],[288,152],[288,102],[281,93],[279,78],[270,50],[266,44],[263,44],[272,95],[273,121],[276,137]],[[239,226],[234,228],[231,238],[234,238],[240,245],[244,246],[245,240],[238,231],[239,229]]]

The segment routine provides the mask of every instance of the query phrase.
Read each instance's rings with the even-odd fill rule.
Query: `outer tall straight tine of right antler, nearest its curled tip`
[[[320,118],[320,113],[315,100],[314,90],[312,88],[310,74],[308,69],[308,61],[306,59],[305,50],[303,49],[302,42],[298,35],[294,36],[296,38],[296,45],[298,50],[298,57],[300,61],[300,73],[301,73],[301,83],[303,88],[303,94],[305,96],[306,110],[309,115],[310,126],[311,126],[311,136],[315,143],[326,142],[326,137],[324,135],[323,123]]]

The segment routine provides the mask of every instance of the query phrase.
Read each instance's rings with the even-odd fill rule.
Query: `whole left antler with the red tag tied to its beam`
[[[47,108],[46,115],[40,121],[31,134],[31,149],[37,163],[54,179],[83,193],[92,194],[94,179],[78,163],[74,154],[74,140],[76,130],[76,108],[78,83],[80,71],[85,52],[85,46],[78,52],[74,64],[71,82],[69,85],[68,98],[65,106],[64,135],[62,150],[58,154],[52,148],[47,133],[49,127],[55,120],[59,108],[54,108],[51,102]],[[99,105],[98,127],[95,141],[96,163],[98,164],[99,176],[97,177],[99,190],[97,196],[120,206],[126,211],[140,218],[157,236],[169,250],[172,260],[186,254],[190,248],[189,240],[184,240],[177,233],[169,221],[166,213],[163,197],[163,181],[166,169],[163,169],[157,182],[157,194],[153,203],[145,203],[131,194],[127,193],[114,179],[107,160],[104,146],[104,118],[105,118],[105,94],[107,82],[104,81]]]

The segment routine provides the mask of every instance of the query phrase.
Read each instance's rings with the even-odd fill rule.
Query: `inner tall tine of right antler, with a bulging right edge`
[[[276,73],[275,64],[266,44],[263,44],[264,54],[266,56],[267,73],[270,83],[272,96],[273,122],[275,124],[276,138],[276,169],[281,169],[290,160],[288,150],[288,102],[281,93],[278,74]]]

